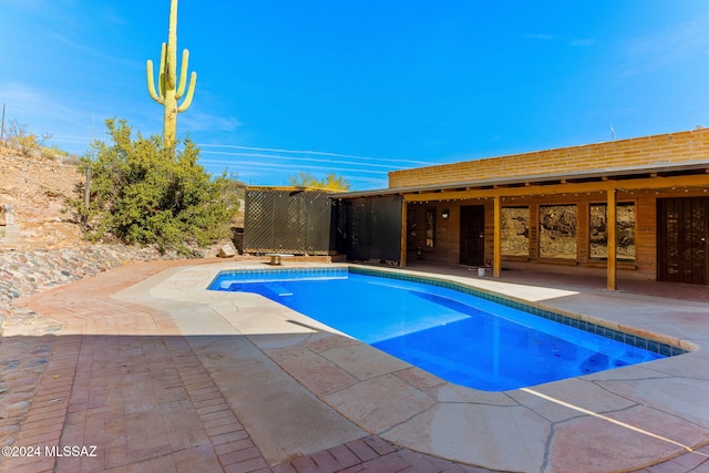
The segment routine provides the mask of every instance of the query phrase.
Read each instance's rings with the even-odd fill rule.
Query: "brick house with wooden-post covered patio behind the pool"
[[[619,281],[709,285],[709,131],[672,133],[390,173],[398,264],[563,267]],[[373,204],[372,204],[373,205]],[[393,215],[393,214],[392,214]],[[381,225],[381,224],[380,224]]]

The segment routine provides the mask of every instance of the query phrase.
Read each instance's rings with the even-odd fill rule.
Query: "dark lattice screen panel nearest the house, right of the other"
[[[401,264],[401,196],[342,199],[337,248],[350,261]]]

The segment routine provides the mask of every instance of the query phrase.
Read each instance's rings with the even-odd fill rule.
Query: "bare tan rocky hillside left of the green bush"
[[[0,205],[11,204],[20,226],[20,250],[83,246],[79,226],[61,210],[83,181],[74,164],[23,155],[0,143]],[[6,245],[7,246],[7,245]],[[2,248],[1,249],[7,249]]]

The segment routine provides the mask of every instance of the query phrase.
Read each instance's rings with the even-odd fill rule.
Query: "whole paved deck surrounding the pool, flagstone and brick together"
[[[484,392],[259,296],[205,290],[219,270],[255,266],[131,265],[19,299],[56,336],[41,338],[51,356],[16,445],[97,456],[4,459],[6,471],[709,471],[706,288],[665,285],[675,298],[660,298],[647,285],[414,268],[696,348]]]

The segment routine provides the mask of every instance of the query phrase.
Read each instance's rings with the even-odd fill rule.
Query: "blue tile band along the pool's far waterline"
[[[215,282],[225,274],[228,275],[244,275],[248,279],[257,277],[266,277],[273,275],[298,276],[298,277],[314,277],[314,276],[340,276],[347,273],[378,276],[390,279],[408,280],[413,282],[429,284],[431,286],[443,287],[446,289],[458,290],[463,294],[480,297],[492,302],[500,304],[502,306],[511,307],[513,309],[523,310],[533,316],[542,317],[547,320],[552,320],[558,323],[563,323],[579,330],[584,330],[590,333],[599,335],[602,337],[609,338],[612,340],[620,341],[634,347],[643,348],[655,353],[660,353],[665,357],[675,357],[678,354],[685,354],[691,351],[680,347],[680,340],[675,343],[667,343],[653,338],[648,338],[645,335],[640,335],[639,331],[634,332],[633,327],[624,327],[624,330],[608,327],[604,325],[602,320],[595,319],[594,321],[588,316],[580,316],[577,313],[564,312],[558,309],[549,309],[541,305],[536,305],[522,299],[516,299],[512,296],[501,296],[493,291],[487,291],[480,288],[467,286],[463,282],[453,281],[449,279],[442,279],[430,275],[412,275],[410,273],[399,273],[397,269],[378,269],[362,266],[337,266],[337,267],[314,267],[314,268],[258,268],[258,269],[232,269],[219,271],[215,278],[207,286],[210,290],[217,290],[214,288]]]

